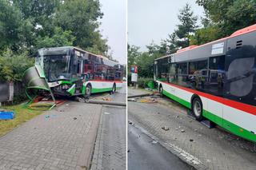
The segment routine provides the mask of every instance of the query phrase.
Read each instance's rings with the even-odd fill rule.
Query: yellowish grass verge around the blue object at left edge
[[[0,109],[15,112],[15,117],[13,120],[0,120],[0,136],[5,135],[13,128],[16,128],[18,125],[22,125],[22,123],[26,121],[30,121],[30,119],[38,116],[43,112],[42,110],[27,109],[22,105],[2,106]]]

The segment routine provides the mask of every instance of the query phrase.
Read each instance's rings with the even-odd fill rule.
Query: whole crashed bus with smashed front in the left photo
[[[90,97],[122,88],[123,65],[73,46],[38,49],[35,65],[54,96]]]

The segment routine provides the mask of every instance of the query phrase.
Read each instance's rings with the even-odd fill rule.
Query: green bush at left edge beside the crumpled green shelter
[[[0,55],[0,80],[21,81],[24,71],[34,65],[27,53],[14,54],[10,49]]]

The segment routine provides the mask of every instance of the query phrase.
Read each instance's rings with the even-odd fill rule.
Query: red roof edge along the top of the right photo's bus
[[[170,57],[170,56],[173,56],[173,55],[175,55],[175,56],[182,55],[182,54],[190,52],[190,51],[195,51],[195,49],[202,49],[202,48],[206,47],[207,45],[213,45],[213,44],[218,45],[218,43],[223,43],[223,47],[224,47],[224,45],[226,44],[225,42],[226,42],[227,39],[234,38],[234,37],[240,36],[242,34],[249,34],[249,33],[254,32],[254,31],[256,31],[256,24],[254,24],[252,26],[248,26],[248,27],[243,28],[241,30],[237,30],[233,34],[231,34],[229,37],[221,38],[221,39],[215,40],[214,42],[208,42],[208,43],[203,44],[203,45],[190,45],[186,48],[178,49],[178,51],[176,53],[169,54],[169,55],[166,55],[166,56],[163,56],[163,57],[159,57],[155,60],[159,60],[159,59],[162,59],[162,58],[165,58],[165,57]],[[223,51],[223,53],[224,53],[224,51]]]

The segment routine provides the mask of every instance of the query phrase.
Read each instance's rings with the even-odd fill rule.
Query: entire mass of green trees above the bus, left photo
[[[102,15],[94,0],[0,0],[0,53],[8,48],[31,56],[41,47],[74,45],[106,55]]]

